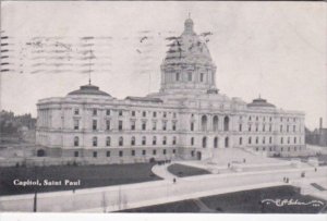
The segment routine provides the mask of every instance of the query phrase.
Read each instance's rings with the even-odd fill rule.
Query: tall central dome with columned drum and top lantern
[[[161,93],[206,94],[216,88],[216,65],[205,35],[197,35],[191,19],[179,37],[168,37],[169,49],[161,64]]]

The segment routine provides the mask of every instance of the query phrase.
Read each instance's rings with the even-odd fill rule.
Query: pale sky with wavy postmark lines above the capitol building
[[[308,128],[319,118],[327,126],[324,2],[2,1],[12,71],[0,73],[0,108],[36,116],[38,99],[87,84],[89,70],[92,84],[119,99],[158,91],[166,37],[182,33],[189,13],[197,34],[213,33],[220,94],[246,102],[261,95],[304,111]]]

